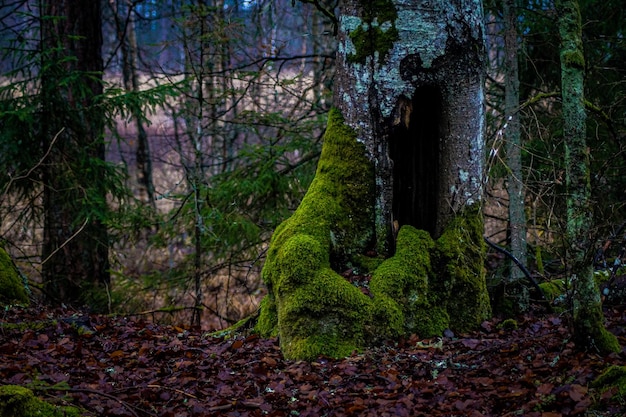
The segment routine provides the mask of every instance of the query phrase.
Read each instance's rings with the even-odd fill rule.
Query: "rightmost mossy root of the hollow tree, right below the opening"
[[[491,315],[485,284],[485,243],[478,205],[458,214],[436,242],[437,292],[445,295],[450,326],[457,332],[475,328]]]

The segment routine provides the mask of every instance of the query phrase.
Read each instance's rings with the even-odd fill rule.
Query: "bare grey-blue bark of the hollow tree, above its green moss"
[[[482,198],[482,2],[346,0],[339,22],[334,103],[374,163],[389,253],[394,221],[437,237]]]

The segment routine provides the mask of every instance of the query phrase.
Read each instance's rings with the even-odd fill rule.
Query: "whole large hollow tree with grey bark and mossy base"
[[[478,0],[343,2],[317,173],[263,270],[257,328],[287,357],[464,331],[490,314],[482,24]],[[371,276],[366,290],[348,269]]]

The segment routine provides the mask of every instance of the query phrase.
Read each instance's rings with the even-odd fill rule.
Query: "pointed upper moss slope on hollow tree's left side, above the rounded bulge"
[[[365,146],[339,111],[331,110],[315,178],[293,216],[276,229],[268,259],[298,234],[316,240],[335,264],[364,253],[374,237],[374,191]]]

